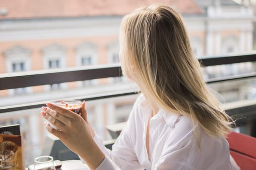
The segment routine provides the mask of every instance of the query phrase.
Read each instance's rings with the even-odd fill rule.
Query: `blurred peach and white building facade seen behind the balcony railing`
[[[90,67],[117,63],[123,15],[154,0],[0,0],[0,73]],[[233,0],[160,0],[184,17],[198,58],[253,50],[253,8]],[[205,79],[249,72],[251,63],[202,68]],[[81,81],[0,91],[0,106],[96,93],[123,78]],[[226,101],[246,98],[248,84],[215,84]],[[122,88],[122,87],[119,87]],[[100,136],[105,125],[125,121],[136,96],[88,102]],[[43,141],[40,109],[1,114],[0,125],[20,123],[27,146]],[[37,114],[38,113],[38,114]],[[34,153],[38,154],[38,153]],[[29,156],[29,155],[27,155]],[[29,159],[29,158],[28,158]]]

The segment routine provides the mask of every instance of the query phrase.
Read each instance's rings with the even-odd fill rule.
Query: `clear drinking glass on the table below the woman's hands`
[[[34,161],[34,170],[56,170],[52,156],[39,156]]]

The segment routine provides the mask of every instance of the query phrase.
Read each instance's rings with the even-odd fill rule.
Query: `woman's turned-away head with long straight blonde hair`
[[[231,118],[203,81],[182,17],[174,9],[153,4],[126,15],[120,41],[123,74],[143,82],[142,93],[159,107],[190,117],[211,136],[231,131]]]

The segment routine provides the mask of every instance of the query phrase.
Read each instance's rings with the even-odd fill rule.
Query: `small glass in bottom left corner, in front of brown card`
[[[0,169],[9,170],[14,165],[14,152],[13,151],[2,151],[0,152]]]

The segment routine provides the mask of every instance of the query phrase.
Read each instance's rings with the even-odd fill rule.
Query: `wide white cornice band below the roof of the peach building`
[[[122,17],[62,18],[39,20],[0,20],[0,42],[70,37],[118,36]],[[213,29],[253,30],[253,17],[184,17],[189,31]],[[232,23],[230,23],[232,22]],[[224,28],[225,27],[225,28]],[[209,27],[210,28],[210,27]]]

